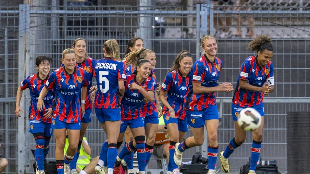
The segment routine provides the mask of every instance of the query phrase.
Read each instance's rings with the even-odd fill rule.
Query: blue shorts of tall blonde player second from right
[[[219,111],[216,105],[209,105],[203,111],[188,111],[185,110],[187,123],[193,128],[201,128],[205,125],[205,120],[219,119]]]

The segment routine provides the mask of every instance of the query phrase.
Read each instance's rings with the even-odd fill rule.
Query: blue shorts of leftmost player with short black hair
[[[34,133],[44,133],[44,136],[51,137],[53,135],[53,129],[51,128],[51,123],[45,123],[40,120],[29,120],[30,128],[29,132]]]

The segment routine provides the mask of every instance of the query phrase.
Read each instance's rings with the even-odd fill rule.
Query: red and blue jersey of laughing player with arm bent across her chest
[[[131,74],[127,76],[125,85],[125,94],[121,101],[121,115],[123,120],[134,120],[138,117],[145,117],[146,111],[144,111],[144,96],[139,90],[129,89],[131,83],[137,83],[136,75]],[[153,91],[154,86],[151,78],[145,79],[139,84],[146,91]],[[125,114],[124,114],[125,113]]]

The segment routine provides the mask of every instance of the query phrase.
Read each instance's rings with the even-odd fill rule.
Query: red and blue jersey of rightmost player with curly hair
[[[240,79],[253,86],[262,87],[268,78],[274,77],[274,66],[271,61],[260,67],[257,56],[250,56],[241,64],[233,104],[239,107],[251,107],[264,103],[264,95],[258,91],[247,91],[239,86]]]

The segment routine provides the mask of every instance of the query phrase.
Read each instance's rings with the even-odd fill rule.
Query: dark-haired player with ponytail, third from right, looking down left
[[[182,142],[185,132],[188,130],[183,105],[188,88],[188,75],[192,66],[193,57],[191,53],[186,50],[181,51],[162,82],[162,91],[159,94],[160,101],[164,106],[162,113],[165,125],[171,138],[168,174],[180,174],[179,168],[173,160],[173,155],[175,144]]]

